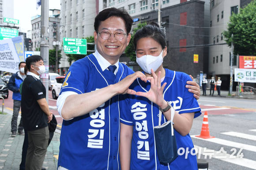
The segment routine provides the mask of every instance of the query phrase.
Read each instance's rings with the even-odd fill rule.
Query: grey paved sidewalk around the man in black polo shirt
[[[0,107],[2,111],[2,107]],[[24,136],[17,133],[11,137],[12,111],[4,109],[0,114],[0,170],[19,170]],[[20,116],[18,118],[18,123]],[[59,131],[60,130],[56,130]],[[47,170],[56,170],[60,146],[60,133],[54,133],[53,139],[47,148],[43,167]],[[56,157],[56,158],[55,158]]]

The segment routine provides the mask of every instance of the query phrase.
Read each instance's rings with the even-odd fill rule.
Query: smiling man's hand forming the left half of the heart
[[[147,77],[140,71],[137,71],[134,74],[128,75],[126,78],[114,84],[114,90],[117,94],[132,94],[136,95],[136,91],[129,89],[129,86],[136,80],[136,78],[140,78],[142,81],[147,82]]]

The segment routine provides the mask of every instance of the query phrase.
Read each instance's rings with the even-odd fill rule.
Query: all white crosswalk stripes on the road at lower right
[[[256,129],[250,129],[250,131],[256,132]],[[233,136],[233,137],[239,137],[239,138],[243,138],[243,139],[247,139],[247,140],[256,140],[256,136],[249,135],[249,134],[246,134],[246,133],[225,132],[225,133],[221,133],[221,134],[229,135],[229,136]],[[251,159],[243,158],[243,156],[242,156],[243,155],[242,150],[248,150],[248,151],[251,151],[251,152],[256,152],[256,146],[237,143],[237,142],[233,142],[233,141],[230,141],[230,140],[223,140],[223,139],[216,138],[216,137],[211,138],[211,139],[199,138],[199,137],[196,137],[196,135],[191,135],[191,137],[195,138],[195,139],[208,141],[208,142],[213,142],[215,144],[221,144],[222,146],[223,145],[229,146],[229,147],[232,147],[233,149],[242,148],[240,150],[237,150],[237,152],[236,151],[234,152],[234,150],[233,150],[233,153],[230,155],[230,154],[227,154],[224,150],[223,150],[224,152],[220,152],[221,150],[220,151],[215,151],[215,150],[202,148],[200,146],[195,145],[195,148],[197,148],[197,150],[198,150],[198,159],[206,159],[206,156],[207,156],[208,158],[215,158],[215,159],[219,159],[219,160],[222,160],[222,161],[225,161],[225,162],[228,162],[228,163],[233,163],[233,164],[236,164],[236,165],[239,165],[239,166],[243,166],[243,167],[247,167],[247,168],[251,168],[253,170],[256,170],[256,161],[251,160]],[[241,158],[239,158],[239,157],[241,157]],[[234,158],[236,158],[236,159],[234,159]]]

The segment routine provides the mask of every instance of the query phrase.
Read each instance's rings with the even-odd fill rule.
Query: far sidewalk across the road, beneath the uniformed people
[[[203,96],[203,90],[200,89],[201,92],[201,96]],[[212,93],[211,93],[212,94]],[[236,94],[235,91],[232,92],[232,94]],[[249,94],[249,93],[244,93],[244,94],[241,94],[241,96],[228,96],[229,95],[229,91],[224,91],[224,90],[221,90],[220,91],[220,96],[218,96],[218,91],[214,91],[214,95],[213,96],[210,96],[210,89],[206,89],[206,97],[229,97],[229,98],[236,98],[236,99],[255,99],[256,100],[256,95],[252,95],[252,94]]]

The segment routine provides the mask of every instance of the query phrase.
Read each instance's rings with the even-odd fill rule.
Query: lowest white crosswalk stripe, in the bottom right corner
[[[215,139],[215,138],[212,138],[212,139]],[[203,154],[204,152],[204,150],[203,150],[203,148],[201,148],[201,147],[199,147],[199,146],[194,146],[195,148],[197,148],[198,149],[198,151],[200,151],[201,150],[201,154]],[[208,151],[208,152],[207,152]],[[221,152],[221,153],[218,153],[217,154],[217,151],[215,151],[215,150],[210,150],[210,149],[206,149],[206,152],[205,152],[205,154],[204,155],[202,155],[203,157],[205,156],[205,155],[208,155],[209,156],[209,153],[212,153],[212,152],[210,152],[210,151],[214,151],[214,155],[212,155],[212,158],[215,158],[215,159],[219,159],[219,160],[222,160],[222,161],[225,161],[225,162],[228,162],[228,163],[233,163],[233,164],[236,164],[236,165],[239,165],[239,166],[244,166],[244,167],[247,167],[247,168],[251,168],[251,169],[253,169],[253,170],[256,170],[256,161],[253,161],[253,160],[250,160],[250,159],[246,159],[246,158],[238,158],[238,157],[236,157],[236,158],[230,158],[230,154],[225,154],[225,153],[223,153],[223,152]],[[243,151],[242,151],[243,152]],[[218,156],[217,156],[217,158],[216,158],[216,155],[218,155],[218,156],[226,156],[226,158],[218,158]],[[235,156],[235,155],[234,155]],[[199,157],[199,156],[198,156]]]

